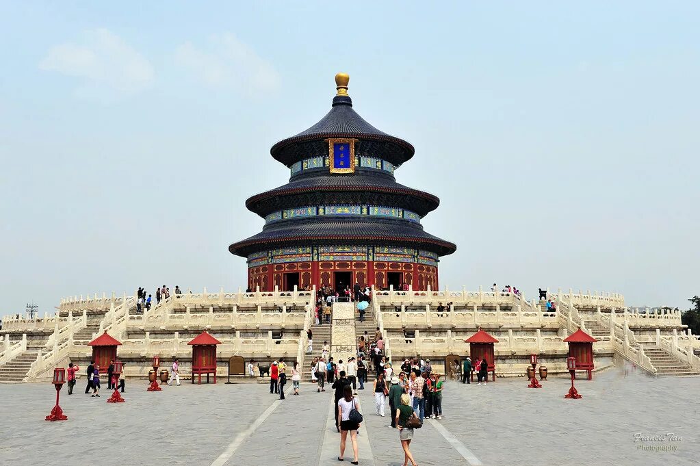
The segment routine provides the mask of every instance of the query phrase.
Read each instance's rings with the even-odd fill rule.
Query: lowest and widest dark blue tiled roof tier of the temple
[[[433,251],[437,255],[448,255],[457,249],[454,243],[433,236],[423,231],[421,225],[407,220],[304,219],[268,225],[255,236],[233,243],[228,250],[232,254],[247,257],[248,254],[265,248],[337,241],[411,246]]]

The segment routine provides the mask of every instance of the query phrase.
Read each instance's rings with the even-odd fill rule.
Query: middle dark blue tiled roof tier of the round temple
[[[265,217],[280,209],[317,204],[373,204],[408,209],[425,216],[440,199],[396,183],[393,176],[318,174],[295,179],[246,200],[248,210]]]

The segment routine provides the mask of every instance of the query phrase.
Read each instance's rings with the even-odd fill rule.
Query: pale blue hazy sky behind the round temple
[[[700,295],[697,2],[0,2],[0,315],[237,290],[276,141],[353,108],[440,197],[440,285]]]

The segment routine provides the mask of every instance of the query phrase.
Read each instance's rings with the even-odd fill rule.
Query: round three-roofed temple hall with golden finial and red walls
[[[395,181],[413,146],[354,111],[349,80],[335,76],[337,95],[321,121],[270,149],[290,169],[289,183],[246,201],[265,226],[228,250],[248,260],[253,290],[435,289],[440,256],[456,250],[421,225],[440,199]]]

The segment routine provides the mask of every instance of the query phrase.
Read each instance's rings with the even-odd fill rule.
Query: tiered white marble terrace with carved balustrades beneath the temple
[[[218,375],[228,374],[228,360],[242,356],[266,365],[281,357],[299,360],[308,378],[310,361],[323,340],[335,360],[355,354],[356,339],[380,327],[392,362],[421,355],[440,370],[447,355],[468,354],[464,339],[479,327],[498,338],[497,374],[524,374],[530,353],[538,353],[549,372],[566,371],[563,339],[579,327],[593,334],[596,367],[627,360],[652,375],[700,372],[700,341],[680,323],[680,313],[624,307],[614,294],[549,294],[556,312],[540,302],[502,292],[467,290],[374,291],[367,322],[358,323],[354,304],[337,303],[332,325],[313,325],[304,309],[313,303],[310,292],[207,292],[172,296],[146,312],[136,313],[134,297],[64,299],[55,316],[31,320],[6,317],[0,336],[0,381],[48,380],[55,367],[89,362],[87,343],[106,331],[123,342],[118,356],[127,376],[146,377],[151,358],[160,355],[163,367],[172,358],[188,371],[187,342],[203,330],[222,341],[218,346]],[[438,311],[438,306],[444,306]],[[306,330],[311,325],[314,348],[306,354]],[[444,369],[442,369],[444,370]]]

